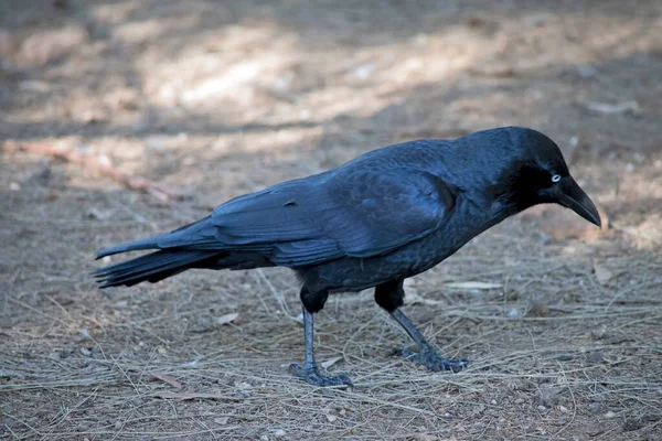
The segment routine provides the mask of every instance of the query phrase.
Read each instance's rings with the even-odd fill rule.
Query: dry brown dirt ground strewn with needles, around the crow
[[[0,439],[660,440],[661,123],[655,0],[3,0]],[[232,196],[505,125],[556,140],[608,227],[537,207],[413,280],[463,373],[388,357],[409,342],[363,292],[316,321],[356,387],[292,378],[287,270],[89,276]]]

